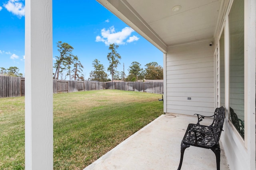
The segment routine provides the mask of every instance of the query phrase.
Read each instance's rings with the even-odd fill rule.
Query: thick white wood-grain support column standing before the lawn
[[[52,0],[25,6],[25,168],[52,170]]]

